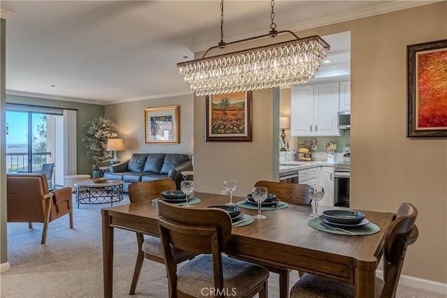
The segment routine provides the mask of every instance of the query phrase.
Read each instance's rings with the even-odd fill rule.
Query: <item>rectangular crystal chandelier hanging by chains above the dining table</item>
[[[320,68],[321,60],[326,57],[330,46],[320,36],[299,38],[292,31],[277,31],[277,24],[274,23],[274,0],[271,1],[271,7],[272,24],[268,34],[224,43],[221,0],[220,43],[210,47],[201,59],[177,64],[191,91],[198,96],[232,93],[303,84],[314,77],[314,71]],[[226,45],[267,36],[274,38],[280,33],[291,33],[295,39],[205,58],[210,50],[217,47],[225,48]]]

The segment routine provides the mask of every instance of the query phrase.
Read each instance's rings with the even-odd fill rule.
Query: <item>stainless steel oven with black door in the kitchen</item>
[[[351,163],[336,163],[334,167],[334,206],[349,207],[349,177]]]

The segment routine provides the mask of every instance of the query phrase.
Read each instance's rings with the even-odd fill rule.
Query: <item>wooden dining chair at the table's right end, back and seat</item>
[[[376,277],[375,297],[396,296],[406,248],[418,239],[418,227],[414,224],[417,216],[418,209],[413,204],[404,202],[400,205],[395,220],[388,225],[384,236],[385,245],[381,253],[383,254],[383,280]],[[353,285],[306,273],[293,285],[290,297],[353,297]]]

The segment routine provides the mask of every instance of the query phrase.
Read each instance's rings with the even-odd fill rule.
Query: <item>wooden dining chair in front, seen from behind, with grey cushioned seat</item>
[[[217,208],[191,209],[156,202],[168,271],[169,297],[268,297],[264,267],[223,256],[231,236],[230,215]],[[198,255],[177,270],[170,246]]]

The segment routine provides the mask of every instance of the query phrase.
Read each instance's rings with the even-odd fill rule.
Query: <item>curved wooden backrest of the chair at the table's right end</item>
[[[406,248],[418,239],[415,225],[418,209],[410,203],[401,204],[395,221],[390,223],[385,234],[383,253],[383,281],[385,285],[381,297],[395,297]]]

